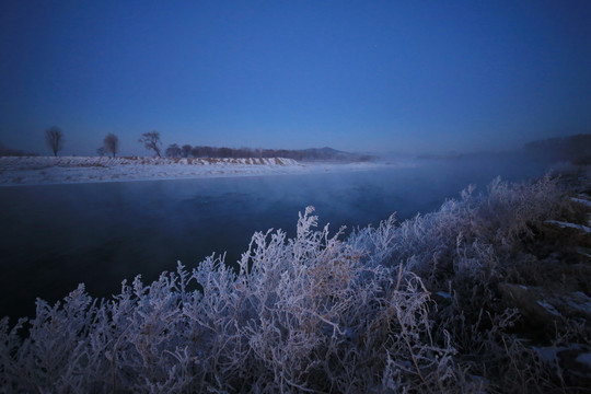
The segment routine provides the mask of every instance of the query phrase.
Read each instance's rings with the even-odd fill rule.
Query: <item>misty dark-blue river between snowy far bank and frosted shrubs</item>
[[[314,206],[321,225],[378,224],[432,211],[468,184],[497,175],[520,181],[544,167],[509,157],[420,161],[381,171],[45,185],[0,188],[0,316],[32,315],[79,282],[94,297],[118,293],[123,279],[144,281],[181,260],[212,253],[233,264],[255,231],[293,235],[298,212]]]

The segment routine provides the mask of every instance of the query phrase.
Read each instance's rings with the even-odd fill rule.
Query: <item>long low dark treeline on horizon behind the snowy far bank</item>
[[[166,148],[164,154],[167,158],[286,158],[297,161],[370,161],[373,157],[349,153],[338,151],[332,148],[321,149],[301,149],[301,150],[287,150],[287,149],[251,149],[251,148],[217,148],[184,144],[179,147],[176,143],[172,143]]]

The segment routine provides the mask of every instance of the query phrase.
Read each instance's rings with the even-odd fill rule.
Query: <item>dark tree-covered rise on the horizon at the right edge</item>
[[[533,141],[526,143],[524,150],[542,161],[591,164],[591,134]]]

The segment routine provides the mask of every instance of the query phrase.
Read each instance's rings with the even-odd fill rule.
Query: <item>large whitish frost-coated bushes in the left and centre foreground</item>
[[[451,344],[434,343],[431,301],[404,267],[314,231],[256,233],[234,271],[213,256],[113,300],[81,286],[0,331],[4,392],[461,391]],[[379,240],[375,240],[379,243]],[[21,331],[21,333],[19,333]],[[19,335],[24,336],[24,339]],[[464,384],[464,387],[468,387]]]

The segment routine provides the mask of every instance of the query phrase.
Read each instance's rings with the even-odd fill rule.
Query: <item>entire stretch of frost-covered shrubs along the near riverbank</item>
[[[557,183],[473,188],[376,228],[255,233],[237,269],[211,256],[112,300],[81,285],[0,324],[0,391],[470,393],[558,387],[511,334],[490,283],[537,223],[569,215]],[[437,301],[437,293],[442,301]],[[532,383],[533,382],[533,383]]]

